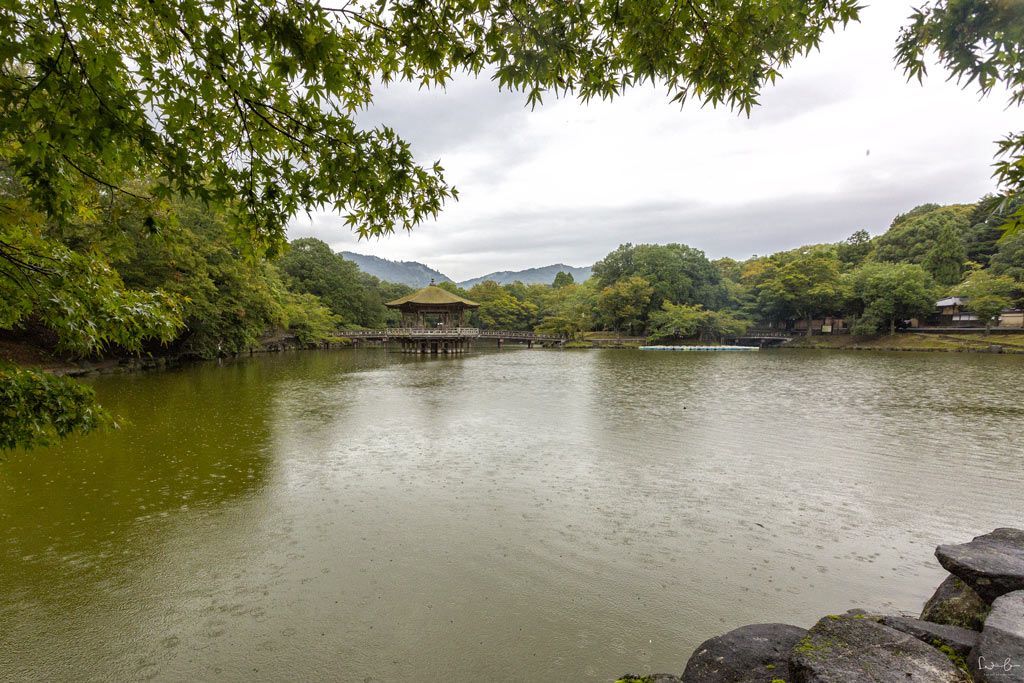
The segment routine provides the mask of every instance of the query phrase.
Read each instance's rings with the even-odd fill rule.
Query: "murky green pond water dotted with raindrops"
[[[0,455],[0,679],[607,681],[915,612],[1024,523],[1024,357],[298,352]]]

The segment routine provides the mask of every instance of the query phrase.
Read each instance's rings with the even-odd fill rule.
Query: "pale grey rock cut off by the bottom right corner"
[[[976,683],[1024,682],[1024,591],[992,603],[968,664]]]

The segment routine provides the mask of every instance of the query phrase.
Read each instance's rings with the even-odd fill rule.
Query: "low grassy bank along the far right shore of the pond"
[[[858,351],[981,351],[990,352],[993,346],[1002,353],[1024,353],[1024,335],[993,332],[983,335],[976,332],[948,334],[921,334],[902,332],[881,337],[853,335],[821,335],[800,337],[787,342],[784,348],[820,348]]]

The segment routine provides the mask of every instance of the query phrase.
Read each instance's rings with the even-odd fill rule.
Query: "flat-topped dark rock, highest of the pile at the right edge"
[[[1024,530],[1019,528],[997,528],[971,543],[939,546],[935,556],[985,602],[1024,590]]]

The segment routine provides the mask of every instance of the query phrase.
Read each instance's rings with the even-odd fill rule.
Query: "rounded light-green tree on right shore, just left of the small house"
[[[932,276],[913,263],[865,263],[848,281],[860,334],[878,334],[885,327],[895,334],[899,321],[924,315],[935,305]]]

